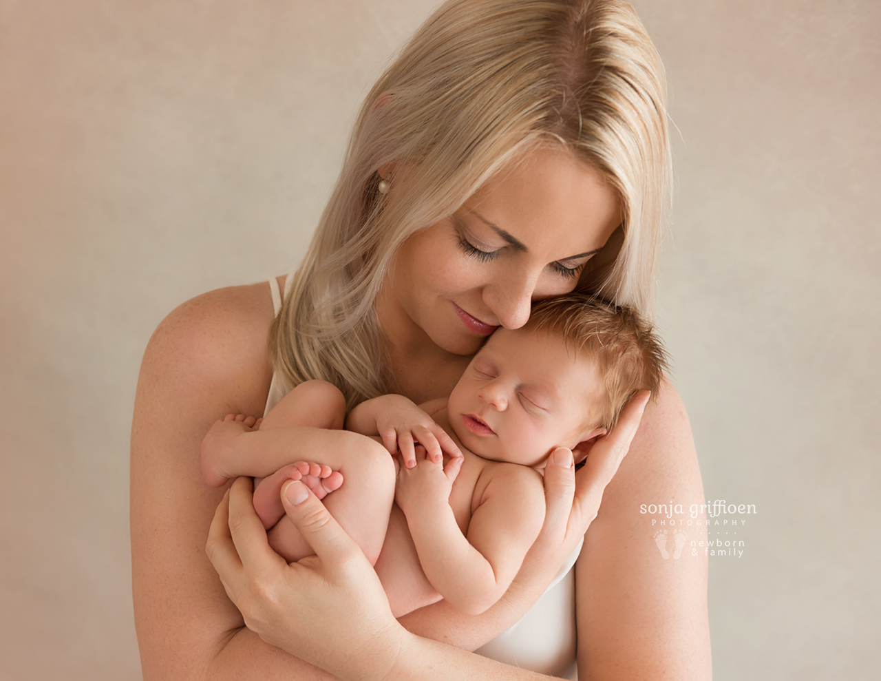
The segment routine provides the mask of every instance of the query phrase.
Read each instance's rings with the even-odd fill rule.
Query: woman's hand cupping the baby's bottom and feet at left
[[[227,596],[271,645],[338,677],[384,676],[408,634],[373,567],[306,485],[287,483],[282,501],[316,555],[288,565],[272,551],[251,480],[239,477],[214,514],[205,548]]]

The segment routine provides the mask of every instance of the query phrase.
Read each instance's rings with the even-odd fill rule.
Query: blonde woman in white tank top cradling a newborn
[[[484,646],[554,597],[538,626],[562,622],[544,646],[556,666],[537,667],[562,672],[560,656],[574,656],[572,618],[582,678],[708,677],[706,562],[659,562],[638,513],[703,498],[669,384],[648,407],[634,398],[577,475],[571,453],[555,452],[544,529],[500,602],[476,618],[442,602],[402,618],[418,636],[301,485],[285,489],[287,510],[322,558],[286,566],[255,525],[249,481],[221,500],[198,464],[216,418],[263,413],[307,379],[336,383],[350,406],[390,391],[446,396],[488,334],[527,321],[531,300],[579,286],[651,315],[669,158],[661,65],[629,5],[436,11],[367,97],[304,263],[278,282],[278,315],[266,285],[207,293],[145,352],[131,463],[144,677],[518,677],[458,648]],[[343,431],[297,435],[296,458],[373,446]],[[519,662],[520,645],[484,649]]]

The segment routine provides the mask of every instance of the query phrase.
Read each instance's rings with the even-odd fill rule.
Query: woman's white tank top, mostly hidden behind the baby
[[[291,290],[293,278],[285,279],[285,296]],[[275,314],[281,309],[282,296],[278,279],[270,279],[272,307]],[[289,388],[278,374],[272,374],[270,393],[266,398],[263,416],[278,404]],[[581,552],[581,539],[566,559],[538,602],[519,622],[500,633],[474,652],[507,662],[515,667],[537,671],[553,677],[577,678],[575,667],[575,559]]]

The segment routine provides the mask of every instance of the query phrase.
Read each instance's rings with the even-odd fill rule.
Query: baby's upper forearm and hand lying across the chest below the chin
[[[374,397],[349,413],[345,427],[363,435],[379,435],[389,454],[401,452],[405,468],[416,465],[414,448],[417,444],[426,448],[434,463],[441,463],[443,452],[458,458],[462,457],[462,452],[425,408],[436,411],[446,403],[446,399],[439,399],[417,406],[400,395]]]

